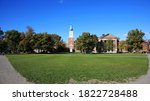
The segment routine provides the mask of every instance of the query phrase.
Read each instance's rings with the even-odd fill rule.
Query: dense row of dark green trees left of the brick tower
[[[9,30],[0,40],[0,52],[4,53],[60,53],[66,52],[65,42],[57,34],[35,33],[32,27],[27,32]]]

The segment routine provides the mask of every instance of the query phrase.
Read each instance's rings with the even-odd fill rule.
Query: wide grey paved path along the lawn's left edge
[[[3,55],[0,55],[0,84],[29,84]]]

